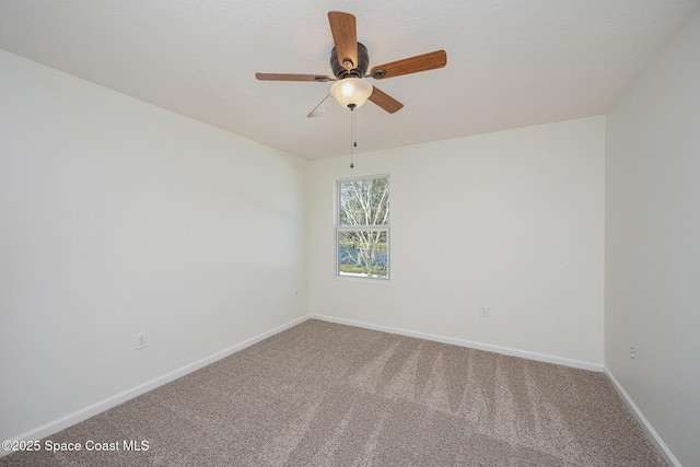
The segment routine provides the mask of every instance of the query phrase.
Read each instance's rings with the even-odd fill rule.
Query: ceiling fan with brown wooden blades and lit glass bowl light
[[[328,12],[328,22],[335,43],[330,52],[330,68],[335,78],[327,74],[255,73],[255,78],[261,81],[315,81],[320,83],[336,81],[330,87],[330,93],[308,114],[308,117],[322,115],[330,107],[332,100],[351,110],[360,107],[366,101],[371,101],[389,114],[394,114],[400,110],[404,104],[363,81],[363,78],[371,77],[375,80],[384,80],[434,70],[447,63],[447,54],[444,50],[435,50],[373,67],[370,73],[365,74],[370,65],[370,56],[366,47],[358,43],[354,15],[330,11]]]

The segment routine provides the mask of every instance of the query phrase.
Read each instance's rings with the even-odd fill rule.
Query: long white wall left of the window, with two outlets
[[[0,439],[306,313],[306,161],[4,51],[0,131]]]

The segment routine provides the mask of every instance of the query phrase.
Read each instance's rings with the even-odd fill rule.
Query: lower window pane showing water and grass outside
[[[387,279],[387,231],[339,231],[338,273]]]

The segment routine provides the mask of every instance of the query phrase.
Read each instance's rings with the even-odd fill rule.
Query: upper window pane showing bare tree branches
[[[388,225],[388,177],[342,180],[338,190],[339,225]]]

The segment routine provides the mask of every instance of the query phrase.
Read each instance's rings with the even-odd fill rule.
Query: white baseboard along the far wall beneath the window
[[[345,319],[345,318],[337,318],[334,316],[317,315],[314,313],[310,314],[308,317],[313,319],[329,322],[329,323],[337,323],[341,325],[361,327],[365,329],[380,330],[383,332],[398,334],[400,336],[417,337],[419,339],[432,340],[435,342],[451,343],[459,347],[468,347],[470,349],[485,350],[487,352],[502,353],[504,355],[520,357],[523,359],[535,360],[538,362],[553,363],[557,365],[571,366],[574,369],[590,370],[594,372],[603,371],[603,365],[598,363],[565,359],[563,357],[548,355],[546,353],[528,352],[525,350],[511,349],[508,347],[492,346],[489,343],[474,342],[465,339],[456,339],[452,337],[438,336],[438,335],[428,334],[428,332],[418,332],[409,329],[400,329],[400,328],[394,328],[389,326],[375,325],[371,323],[355,322],[353,319]]]

